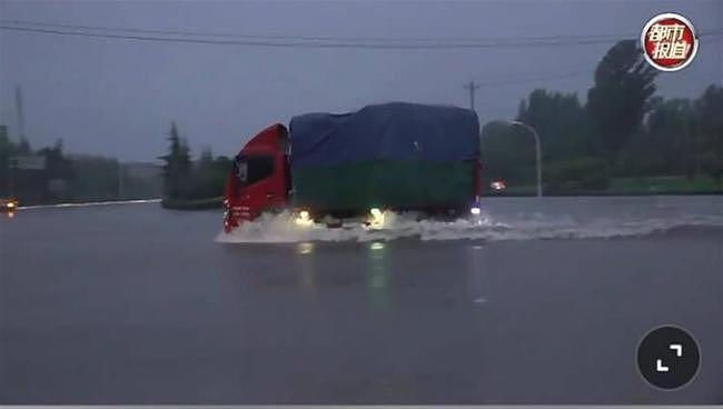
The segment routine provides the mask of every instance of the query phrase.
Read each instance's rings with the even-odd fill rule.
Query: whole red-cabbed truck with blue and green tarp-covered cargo
[[[479,121],[457,107],[392,102],[273,124],[234,160],[225,230],[265,212],[297,222],[377,221],[386,210],[478,213]],[[329,221],[331,220],[331,222]]]

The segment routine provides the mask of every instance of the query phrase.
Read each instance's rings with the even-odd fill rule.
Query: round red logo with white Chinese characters
[[[658,70],[681,70],[697,52],[695,28],[681,14],[657,14],[643,28],[641,48],[647,62]]]

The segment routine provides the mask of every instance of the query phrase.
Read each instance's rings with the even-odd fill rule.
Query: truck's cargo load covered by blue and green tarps
[[[295,207],[317,211],[468,206],[476,191],[474,111],[393,102],[290,123]]]

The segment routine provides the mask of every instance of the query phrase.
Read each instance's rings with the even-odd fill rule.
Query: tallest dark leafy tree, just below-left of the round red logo
[[[611,164],[640,128],[655,92],[657,72],[634,40],[617,42],[597,64],[595,84],[587,92],[587,111]]]

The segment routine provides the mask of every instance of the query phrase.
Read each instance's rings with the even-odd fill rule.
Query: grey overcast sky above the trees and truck
[[[636,38],[658,12],[721,30],[723,1],[8,1],[0,18],[131,29],[383,38]],[[683,71],[657,78],[658,94],[697,97],[723,82],[722,36],[705,37]],[[577,92],[613,44],[484,49],[314,49],[148,42],[0,30],[0,123],[17,137],[22,87],[33,147],[155,160],[176,120],[197,154],[235,154],[273,122],[390,100],[468,106],[482,122],[513,118],[534,88]],[[541,79],[542,77],[542,79]]]

